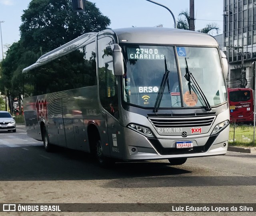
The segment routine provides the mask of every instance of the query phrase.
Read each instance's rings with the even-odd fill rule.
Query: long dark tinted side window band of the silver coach
[[[96,85],[95,43],[24,74],[24,95],[34,96]]]

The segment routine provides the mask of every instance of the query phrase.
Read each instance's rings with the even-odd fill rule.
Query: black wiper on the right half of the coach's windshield
[[[196,81],[196,79],[194,78],[194,76],[192,75],[192,73],[189,71],[188,69],[188,62],[187,62],[187,58],[185,57],[185,61],[186,61],[186,75],[184,76],[186,78],[186,80],[188,81],[188,90],[189,93],[191,94],[191,81],[190,79],[192,79],[194,86],[197,88],[199,94],[201,95],[202,99],[204,100],[204,103],[206,105],[206,111],[211,111],[212,108],[204,94],[204,92],[202,91],[202,89],[200,88],[198,82]]]

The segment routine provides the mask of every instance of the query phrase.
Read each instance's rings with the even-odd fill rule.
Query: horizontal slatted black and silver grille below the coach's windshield
[[[202,127],[211,126],[216,116],[183,117],[183,118],[148,118],[155,128]]]

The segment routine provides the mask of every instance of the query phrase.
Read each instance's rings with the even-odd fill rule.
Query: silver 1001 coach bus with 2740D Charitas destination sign
[[[86,33],[23,70],[30,137],[124,161],[224,155],[226,56],[214,37],[156,27]]]

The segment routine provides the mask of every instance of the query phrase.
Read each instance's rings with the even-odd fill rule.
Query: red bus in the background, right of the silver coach
[[[230,122],[253,123],[253,94],[251,88],[228,88]]]

